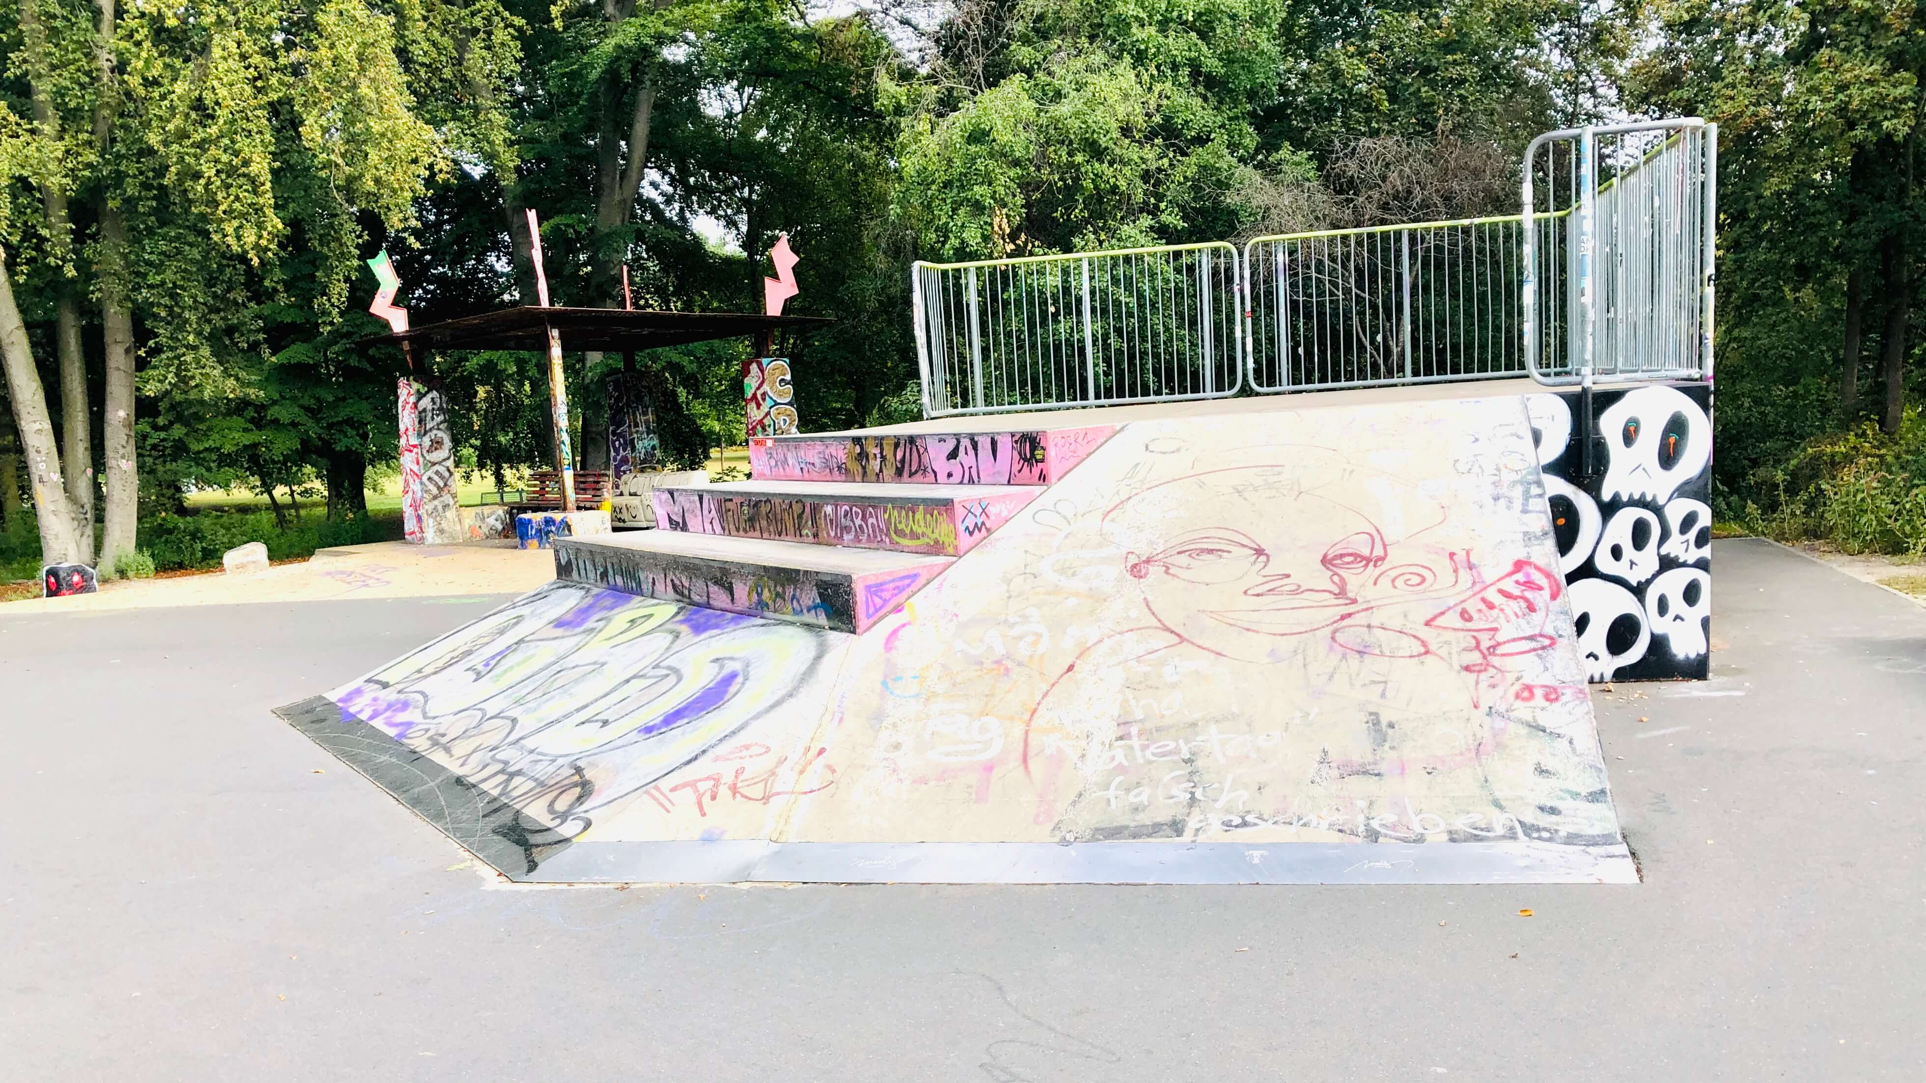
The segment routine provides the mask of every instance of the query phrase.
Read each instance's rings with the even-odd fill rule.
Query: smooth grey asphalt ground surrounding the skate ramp
[[[1926,1079],[1926,608],[1714,550],[1635,887],[514,887],[270,714],[499,598],[0,612],[0,1077]]]

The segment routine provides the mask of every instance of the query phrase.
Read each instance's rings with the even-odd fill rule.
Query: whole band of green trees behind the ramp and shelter
[[[1722,500],[1916,410],[1920,8],[1772,0],[0,0],[0,485],[114,560],[191,487],[324,485],[395,446],[416,321],[534,298],[755,310],[811,427],[915,402],[909,262],[1508,210],[1539,131],[1722,125]],[[742,344],[655,350],[664,450],[740,441]],[[580,417],[622,358],[574,356]],[[549,456],[526,354],[416,358],[462,462]],[[580,442],[578,442],[580,444]],[[1911,446],[1911,444],[1909,444]],[[1801,460],[1803,462],[1803,460]],[[1926,477],[1926,464],[1920,466]],[[17,481],[15,481],[17,477]],[[1797,479],[1795,479],[1797,481]],[[4,512],[10,504],[0,504]],[[94,529],[102,531],[96,552]]]

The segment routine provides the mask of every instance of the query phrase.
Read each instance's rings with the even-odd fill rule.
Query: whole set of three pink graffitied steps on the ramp
[[[861,633],[1115,431],[757,437],[753,481],[657,489],[657,529],[557,539],[555,577]]]

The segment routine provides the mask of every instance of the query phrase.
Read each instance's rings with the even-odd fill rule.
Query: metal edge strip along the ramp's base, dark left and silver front
[[[1639,883],[1631,852],[1549,843],[574,843],[327,696],[275,708],[518,883]]]

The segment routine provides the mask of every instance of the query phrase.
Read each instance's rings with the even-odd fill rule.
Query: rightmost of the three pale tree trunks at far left
[[[100,560],[135,550],[141,516],[141,469],[133,442],[133,310],[127,304],[127,223],[100,200],[100,327],[106,339],[106,402],[100,414],[100,452],[106,462],[108,508]]]

